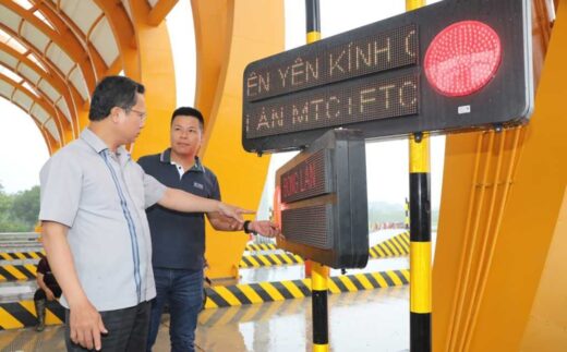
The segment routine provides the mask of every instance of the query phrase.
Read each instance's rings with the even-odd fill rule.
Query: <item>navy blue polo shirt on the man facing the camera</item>
[[[217,177],[201,160],[180,177],[171,163],[171,149],[145,156],[137,161],[147,174],[168,187],[220,201]],[[146,209],[152,234],[152,263],[156,268],[203,270],[205,217],[203,213],[180,213],[159,204]]]

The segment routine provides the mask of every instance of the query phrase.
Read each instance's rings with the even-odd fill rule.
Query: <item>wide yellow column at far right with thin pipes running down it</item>
[[[566,16],[560,1],[547,53],[534,56],[545,62],[529,124],[447,137],[435,351],[565,349]]]

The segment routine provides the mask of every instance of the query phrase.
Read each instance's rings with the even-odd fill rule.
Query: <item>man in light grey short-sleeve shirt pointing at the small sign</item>
[[[144,86],[122,76],[95,88],[91,123],[40,172],[44,246],[63,290],[69,351],[144,351],[155,295],[145,208],[218,213],[241,208],[169,189],[147,175],[123,145],[144,126]],[[102,338],[101,338],[102,335]]]

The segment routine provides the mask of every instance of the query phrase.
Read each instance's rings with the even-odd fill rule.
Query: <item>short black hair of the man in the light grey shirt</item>
[[[144,94],[146,89],[124,76],[107,76],[95,87],[88,120],[100,121],[110,114],[110,110],[119,107],[129,110],[136,105],[136,93]]]

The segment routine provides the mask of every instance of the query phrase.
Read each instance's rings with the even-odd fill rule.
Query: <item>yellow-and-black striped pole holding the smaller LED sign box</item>
[[[305,0],[305,15],[307,24],[307,44],[311,44],[321,39],[318,0]],[[311,312],[313,319],[314,352],[327,352],[329,350],[327,304],[328,278],[328,267],[315,262],[311,263]]]

